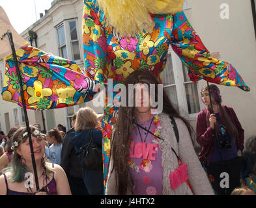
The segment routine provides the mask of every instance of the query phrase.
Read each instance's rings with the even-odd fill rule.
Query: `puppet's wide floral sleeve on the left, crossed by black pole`
[[[55,57],[25,44],[16,51],[27,109],[57,109],[93,98],[94,81],[76,62]],[[5,58],[2,96],[21,107],[20,84],[12,55]]]

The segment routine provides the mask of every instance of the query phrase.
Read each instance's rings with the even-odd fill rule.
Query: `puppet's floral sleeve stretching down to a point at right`
[[[173,22],[171,46],[188,68],[192,81],[205,79],[218,85],[238,86],[249,91],[249,87],[231,64],[210,57],[210,52],[193,30],[184,12],[175,14]]]

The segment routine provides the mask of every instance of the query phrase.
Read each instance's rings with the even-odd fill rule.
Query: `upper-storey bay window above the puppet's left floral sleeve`
[[[65,20],[57,27],[59,56],[69,60],[81,60],[78,23],[76,19]]]

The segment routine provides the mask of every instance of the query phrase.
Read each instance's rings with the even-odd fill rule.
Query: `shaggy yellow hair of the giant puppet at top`
[[[119,35],[134,36],[143,29],[151,32],[154,22],[151,14],[181,12],[184,0],[98,0],[106,16],[106,24]]]

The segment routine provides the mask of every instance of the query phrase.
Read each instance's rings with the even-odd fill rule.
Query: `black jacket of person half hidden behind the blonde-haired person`
[[[74,132],[74,127],[68,130],[63,136],[63,148],[61,150],[61,167],[66,175],[82,178],[82,167],[76,155],[74,145],[70,140],[70,133]]]

